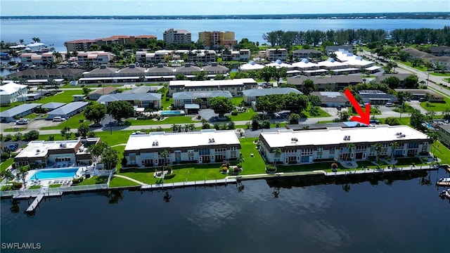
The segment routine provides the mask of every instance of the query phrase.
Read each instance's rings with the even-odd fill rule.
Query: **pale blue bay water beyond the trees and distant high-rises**
[[[0,37],[3,41],[30,42],[39,37],[47,45],[54,44],[58,51],[65,51],[64,41],[72,39],[96,39],[112,35],[154,34],[162,39],[162,32],[170,27],[192,32],[197,41],[198,32],[228,30],[236,32],[236,39],[264,43],[262,34],[274,30],[338,30],[338,29],[383,29],[398,28],[442,28],[450,20],[0,20]]]

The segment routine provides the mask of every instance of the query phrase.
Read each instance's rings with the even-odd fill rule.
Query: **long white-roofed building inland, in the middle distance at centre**
[[[243,90],[256,89],[255,79],[226,79],[208,81],[176,80],[169,82],[169,96],[181,91],[229,91],[233,96],[242,96]]]

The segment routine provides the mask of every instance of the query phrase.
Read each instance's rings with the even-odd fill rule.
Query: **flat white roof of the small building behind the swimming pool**
[[[69,141],[30,141],[28,145],[16,155],[16,158],[20,157],[44,157],[49,150],[65,149],[68,153],[75,153],[73,151],[77,145],[78,140]],[[61,147],[60,144],[65,143],[65,147]],[[38,152],[39,150],[39,152]]]

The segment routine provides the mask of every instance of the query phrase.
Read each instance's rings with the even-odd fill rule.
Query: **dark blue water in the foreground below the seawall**
[[[348,192],[334,179],[244,181],[241,192],[168,190],[169,202],[162,191],[64,195],[34,216],[23,214],[27,200],[2,200],[1,242],[40,242],[43,252],[445,252],[450,203],[434,183],[446,172],[429,175],[355,181]]]

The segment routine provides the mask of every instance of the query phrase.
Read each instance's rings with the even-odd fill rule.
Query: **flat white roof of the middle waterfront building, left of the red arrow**
[[[210,142],[210,139],[214,139],[214,142]],[[153,145],[155,142],[158,142],[158,145]],[[136,134],[129,136],[125,150],[188,148],[224,144],[240,144],[238,136],[233,130],[204,129],[188,133],[151,132],[150,134]]]

